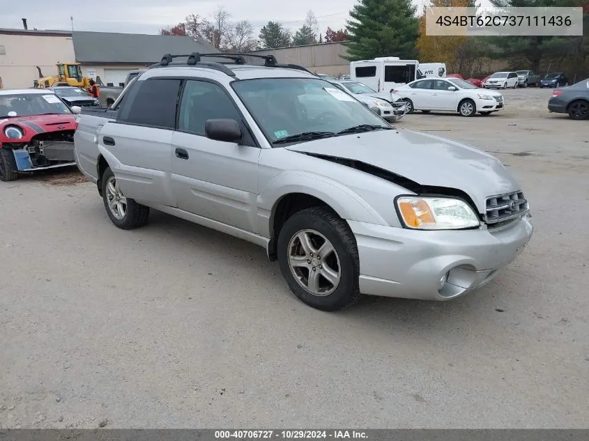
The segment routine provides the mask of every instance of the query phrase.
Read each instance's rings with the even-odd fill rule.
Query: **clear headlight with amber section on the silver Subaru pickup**
[[[401,196],[397,198],[399,217],[415,230],[458,230],[480,226],[468,203],[445,197]]]

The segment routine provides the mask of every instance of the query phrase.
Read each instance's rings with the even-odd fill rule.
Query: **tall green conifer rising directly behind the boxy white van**
[[[418,19],[411,0],[360,0],[347,22],[349,61],[399,56],[413,59],[417,52]]]

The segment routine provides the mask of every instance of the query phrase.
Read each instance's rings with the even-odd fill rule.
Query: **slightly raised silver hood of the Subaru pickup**
[[[481,213],[489,196],[519,185],[494,156],[449,139],[411,130],[378,130],[293,144],[289,150],[340,157],[385,169],[420,185],[460,189]]]

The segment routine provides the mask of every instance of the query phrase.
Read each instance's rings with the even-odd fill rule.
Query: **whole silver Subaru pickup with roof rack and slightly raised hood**
[[[165,56],[115,121],[80,115],[76,161],[115,226],[144,225],[155,208],[249,240],[327,311],[360,294],[450,300],[521,254],[530,209],[500,160],[395,130],[305,68],[263,57]]]

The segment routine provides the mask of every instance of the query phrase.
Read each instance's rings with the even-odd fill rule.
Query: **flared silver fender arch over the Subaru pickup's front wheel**
[[[271,237],[275,208],[284,196],[292,193],[309,194],[321,199],[342,219],[388,225],[367,201],[342,183],[307,171],[284,171],[260,190],[257,205],[261,235]]]

